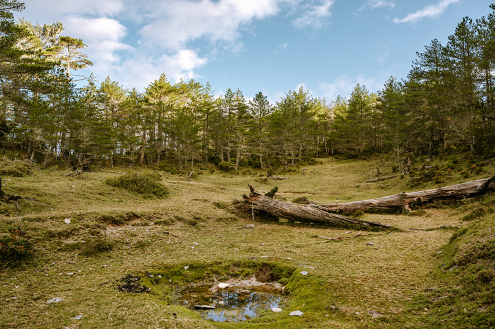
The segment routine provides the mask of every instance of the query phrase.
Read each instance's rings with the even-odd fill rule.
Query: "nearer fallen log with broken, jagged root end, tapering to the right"
[[[250,205],[253,210],[259,210],[261,212],[267,212],[273,216],[286,218],[303,223],[324,223],[339,226],[361,226],[361,227],[381,227],[391,228],[389,225],[381,223],[375,223],[368,220],[361,220],[358,218],[346,217],[338,214],[331,214],[325,212],[322,209],[311,207],[311,205],[298,205],[296,203],[289,203],[284,201],[278,201],[274,198],[270,198],[265,194],[254,190],[254,186],[249,184],[251,193],[249,196],[243,196],[246,203]]]

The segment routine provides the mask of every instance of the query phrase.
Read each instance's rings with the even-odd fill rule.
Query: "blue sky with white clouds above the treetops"
[[[273,104],[299,87],[328,101],[358,83],[377,92],[406,78],[434,38],[445,45],[464,16],[492,11],[492,0],[21,1],[17,18],[58,21],[83,39],[94,65],[77,73],[98,82],[144,91],[165,73]]]

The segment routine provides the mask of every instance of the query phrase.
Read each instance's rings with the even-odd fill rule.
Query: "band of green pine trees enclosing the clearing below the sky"
[[[43,166],[83,161],[186,170],[195,163],[288,168],[315,157],[386,152],[401,171],[419,155],[495,156],[495,4],[465,17],[448,43],[431,41],[402,80],[349,98],[315,98],[301,87],[270,104],[239,89],[215,97],[209,83],[172,83],[164,73],[143,92],[89,67],[85,43],[63,25],[14,21],[0,0],[0,148]],[[75,82],[84,81],[83,87]],[[79,84],[81,85],[81,84]]]

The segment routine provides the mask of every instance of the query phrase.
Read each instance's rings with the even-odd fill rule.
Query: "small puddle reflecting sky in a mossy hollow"
[[[190,286],[177,293],[176,302],[192,309],[214,306],[214,309],[199,310],[201,317],[237,322],[256,317],[262,310],[279,307],[285,300],[287,296],[283,291],[267,286],[230,287],[216,292],[212,292],[210,286]]]

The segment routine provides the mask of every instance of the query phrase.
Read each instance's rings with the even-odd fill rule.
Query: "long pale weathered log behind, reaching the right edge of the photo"
[[[329,205],[308,205],[325,212],[401,212],[411,211],[411,206],[424,205],[434,201],[452,201],[463,200],[485,194],[495,188],[495,175],[478,181],[470,181],[456,185],[446,186],[444,188],[434,188],[418,192],[384,196],[382,198],[372,198],[369,200],[354,201],[348,203],[332,203]]]

